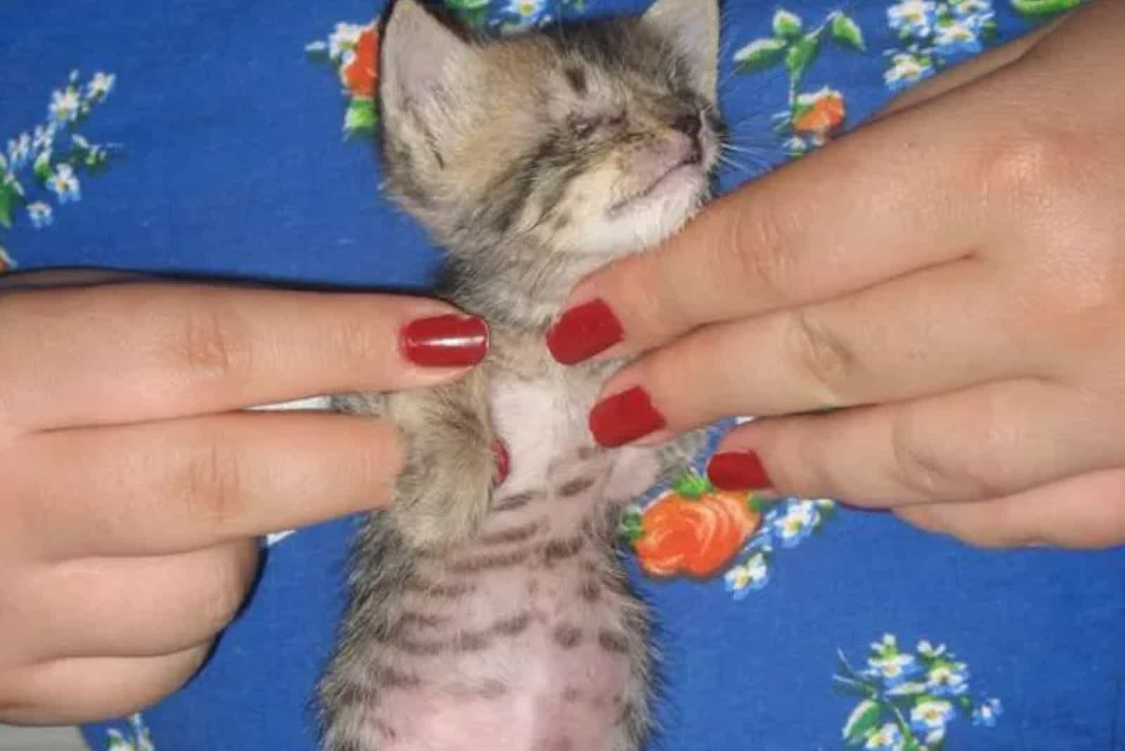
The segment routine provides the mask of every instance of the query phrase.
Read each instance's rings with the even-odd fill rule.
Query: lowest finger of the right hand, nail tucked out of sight
[[[925,504],[894,510],[930,532],[982,548],[1125,544],[1125,470],[1082,474],[975,504]]]

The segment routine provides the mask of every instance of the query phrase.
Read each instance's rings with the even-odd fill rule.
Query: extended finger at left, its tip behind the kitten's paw
[[[366,417],[237,413],[44,433],[0,460],[16,499],[0,524],[58,560],[183,552],[374,508],[402,452]]]

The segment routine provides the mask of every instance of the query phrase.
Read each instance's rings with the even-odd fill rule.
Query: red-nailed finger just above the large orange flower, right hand
[[[709,474],[738,485],[736,459],[753,462],[749,451],[785,494],[871,507],[996,498],[1118,465],[1125,429],[1107,429],[1123,424],[1113,409],[1027,380],[766,419],[727,436]]]

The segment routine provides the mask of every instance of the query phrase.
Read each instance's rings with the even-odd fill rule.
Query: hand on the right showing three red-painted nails
[[[719,486],[981,545],[1125,542],[1123,24],[1078,11],[585,281],[556,355],[648,351],[595,437],[753,414]]]

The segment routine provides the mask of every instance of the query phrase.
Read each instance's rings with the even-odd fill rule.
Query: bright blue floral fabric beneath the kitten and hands
[[[450,4],[498,27],[646,3]],[[784,65],[736,64],[758,60],[752,53],[764,47],[747,45],[775,24],[792,27],[780,9],[800,17],[803,34],[827,22],[794,87],[804,96],[792,102]],[[1011,0],[862,0],[838,10],[827,0],[726,3],[723,106],[753,153],[734,155],[745,164],[724,172],[724,188],[1040,20]],[[6,172],[24,189],[11,198],[4,183],[4,263],[424,289],[439,255],[379,198],[362,102],[358,133],[343,137],[352,99],[336,74],[343,63],[323,58],[331,49],[306,51],[338,22],[367,24],[374,12],[360,0],[0,3],[0,137],[14,139]],[[78,132],[93,172],[84,163],[60,172],[72,70],[79,101],[92,102]],[[90,99],[99,71],[116,78]],[[19,136],[47,121],[55,90],[64,127],[39,179]],[[248,608],[206,669],[143,716],[88,727],[91,747],[312,750],[309,697],[343,607],[353,525],[324,524],[269,548]],[[981,552],[886,515],[790,499],[706,581],[656,580],[633,558],[629,567],[665,654],[652,749],[918,748],[903,730],[948,751],[1125,749],[1125,550]],[[875,699],[865,704],[868,689]],[[937,729],[943,740],[926,743]]]

